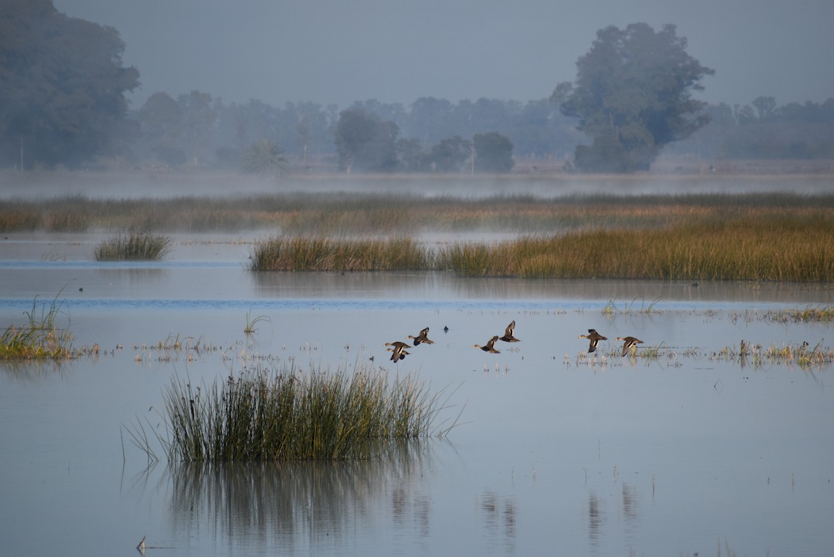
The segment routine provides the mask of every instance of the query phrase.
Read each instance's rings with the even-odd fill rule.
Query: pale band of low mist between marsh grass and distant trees
[[[0,198],[227,198],[275,193],[371,193],[415,197],[491,198],[575,195],[656,195],[687,193],[822,194],[834,191],[828,174],[679,176],[651,173],[633,176],[535,175],[412,177],[342,175],[333,178],[266,179],[218,173],[3,173]]]

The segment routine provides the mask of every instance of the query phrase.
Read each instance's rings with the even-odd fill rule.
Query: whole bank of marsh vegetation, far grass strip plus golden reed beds
[[[828,282],[832,215],[834,194],[70,197],[4,203],[0,231],[269,231],[253,249],[253,271]],[[455,233],[505,239],[436,241]]]

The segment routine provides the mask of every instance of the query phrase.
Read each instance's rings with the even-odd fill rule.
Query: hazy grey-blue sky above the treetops
[[[54,0],[113,26],[142,88],[224,103],[528,101],[575,78],[600,28],[674,23],[716,70],[697,98],[834,97],[832,0]]]

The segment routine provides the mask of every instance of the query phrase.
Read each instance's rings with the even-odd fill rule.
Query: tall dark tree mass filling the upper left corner
[[[0,3],[0,163],[77,166],[129,137],[116,29],[58,13],[52,0]]]

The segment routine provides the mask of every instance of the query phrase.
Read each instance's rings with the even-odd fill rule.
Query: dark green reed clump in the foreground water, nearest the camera
[[[158,439],[169,462],[364,459],[395,440],[448,434],[455,424],[436,424],[441,394],[367,364],[350,372],[256,364],[211,385],[174,378]],[[132,437],[152,459],[143,427]]]

